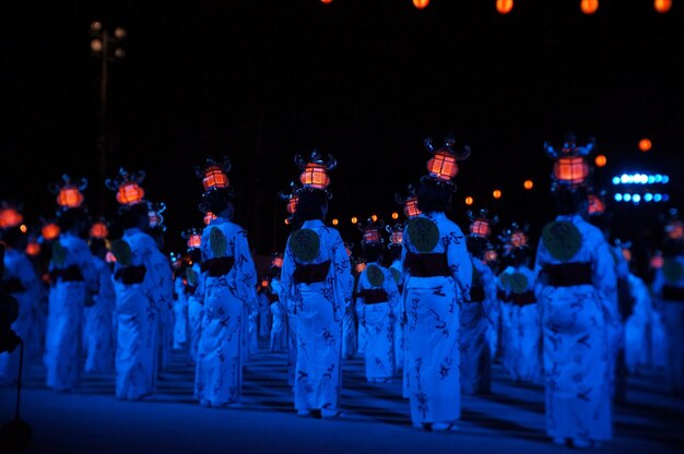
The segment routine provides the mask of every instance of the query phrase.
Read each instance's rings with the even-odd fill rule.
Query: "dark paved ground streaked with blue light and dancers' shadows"
[[[411,427],[399,381],[368,384],[361,359],[345,363],[343,417],[300,418],[292,406],[283,354],[257,355],[245,371],[239,407],[209,409],[192,398],[193,370],[174,355],[158,393],[144,402],[114,397],[113,374],[86,377],[72,393],[44,385],[33,366],[22,419],[34,440],[30,453],[562,453],[544,433],[543,390],[519,385],[494,367],[493,394],[464,396],[458,432]],[[597,453],[684,451],[684,401],[663,391],[658,371],[629,379],[628,404],[615,411],[615,439]],[[0,421],[12,416],[12,390],[0,389]]]

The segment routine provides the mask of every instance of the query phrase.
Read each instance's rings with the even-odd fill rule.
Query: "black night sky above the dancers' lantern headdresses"
[[[165,213],[169,242],[201,225],[192,165],[227,154],[237,220],[260,252],[282,248],[287,228],[275,192],[298,175],[292,157],[318,147],[339,160],[331,215],[398,210],[393,193],[425,171],[422,141],[453,132],[472,157],[457,177],[453,216],[465,195],[505,223],[549,219],[544,141],[573,129],[594,135],[605,178],[646,166],[684,177],[684,7],[657,14],[652,1],[196,0],[22,1],[0,24],[2,199],[23,200],[30,220],[50,213],[48,182],[97,181],[98,61],[89,26],[123,26],[127,56],[110,71],[109,175],[145,169]],[[637,142],[651,138],[653,151]],[[638,167],[640,166],[640,167]],[[531,178],[535,188],[522,190]],[[679,193],[682,187],[671,192]],[[504,191],[494,201],[494,188]],[[114,210],[113,194],[106,194]],[[253,203],[257,202],[257,203]],[[646,219],[634,208],[625,215]],[[647,213],[647,212],[641,212]],[[648,212],[652,214],[652,212]],[[626,217],[621,216],[621,219]],[[632,223],[634,224],[634,223]]]

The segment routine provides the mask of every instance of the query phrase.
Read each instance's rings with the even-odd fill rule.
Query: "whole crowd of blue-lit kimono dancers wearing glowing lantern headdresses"
[[[116,396],[155,391],[173,349],[196,368],[203,406],[240,399],[243,367],[258,338],[287,353],[298,415],[340,415],[343,365],[361,356],[369,382],[399,380],[411,420],[427,431],[456,428],[461,394],[491,392],[500,362],[516,382],[545,387],[546,429],[576,447],[612,438],[613,403],[626,374],[663,368],[684,394],[684,224],[671,210],[652,278],[634,273],[629,244],[610,242],[600,193],[589,181],[593,144],[568,139],[553,159],[557,213],[533,247],[529,227],[468,212],[464,234],[449,217],[457,162],[470,150],[426,141],[428,174],[409,187],[403,224],[358,224],[362,254],[326,224],[328,172],[337,162],[297,156],[300,186],[281,194],[292,234],[266,276],[246,230],[233,219],[227,159],[198,168],[203,231],[189,230],[188,253],[163,252],[163,204],[144,200],[143,172],[107,180],[120,208],[120,238],[89,217],[85,181],[54,187],[57,223],[39,241],[21,207],[3,202],[1,291],[19,311],[12,324],[28,358],[42,358],[47,386],[69,391],[82,372],[116,371]],[[387,235],[386,235],[387,232]],[[50,234],[50,235],[48,235]],[[385,237],[389,240],[385,241]],[[43,251],[39,251],[43,248]],[[16,380],[19,349],[0,354],[0,383]]]

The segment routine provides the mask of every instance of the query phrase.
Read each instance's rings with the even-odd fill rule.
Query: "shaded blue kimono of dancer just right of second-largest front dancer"
[[[459,344],[461,350],[461,390],[464,394],[491,391],[492,355],[487,333],[490,308],[496,304],[496,284],[492,270],[476,258],[471,258],[477,272],[479,285],[484,289],[484,301],[461,303]],[[473,285],[475,285],[473,275]]]

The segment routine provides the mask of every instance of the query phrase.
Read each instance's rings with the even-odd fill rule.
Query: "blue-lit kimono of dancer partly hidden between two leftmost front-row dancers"
[[[114,368],[116,339],[113,328],[113,314],[116,295],[111,282],[109,265],[94,256],[93,263],[97,272],[98,289],[93,296],[93,306],[85,308],[85,328],[83,342],[85,346],[85,371],[110,371]]]

